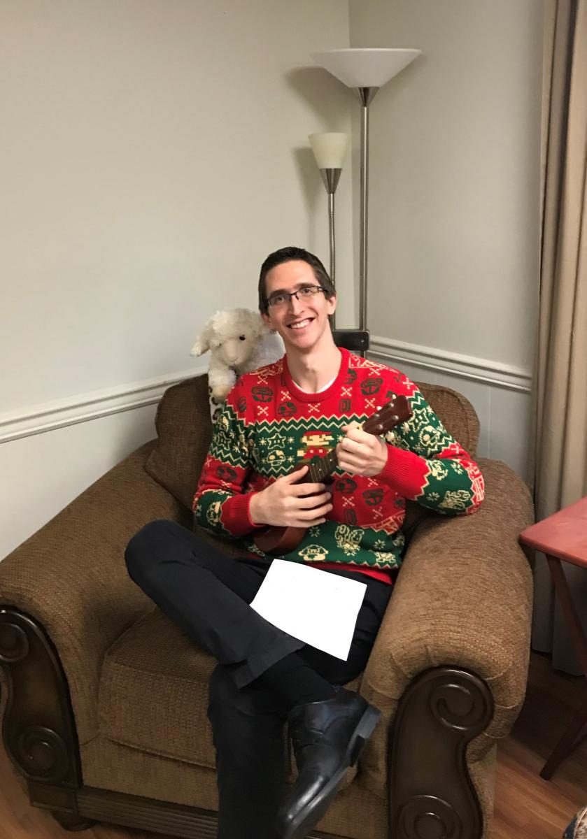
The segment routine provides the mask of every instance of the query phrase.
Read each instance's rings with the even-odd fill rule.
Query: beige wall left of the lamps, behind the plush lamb
[[[309,57],[349,43],[339,0],[0,0],[0,19],[3,556],[155,435],[153,399],[198,368],[213,311],[256,305],[267,253],[328,263],[307,135],[350,117]],[[349,166],[341,292],[351,224]]]

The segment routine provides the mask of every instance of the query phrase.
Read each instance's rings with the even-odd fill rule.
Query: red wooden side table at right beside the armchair
[[[574,607],[569,583],[564,576],[561,561],[587,568],[587,496],[570,504],[548,519],[520,534],[520,541],[536,550],[542,550],[548,560],[548,568],[553,578],[554,590],[563,608],[564,619],[569,628],[569,635],[577,651],[581,668],[587,678],[587,640]],[[587,707],[577,711],[569,727],[555,746],[553,753],[542,767],[542,778],[549,779],[558,764],[573,751],[579,735],[587,723]]]

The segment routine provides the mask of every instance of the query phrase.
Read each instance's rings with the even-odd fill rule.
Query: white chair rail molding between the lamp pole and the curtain
[[[422,347],[405,341],[371,336],[369,357],[371,356],[384,358],[388,362],[398,362],[398,367],[401,367],[401,362],[406,362],[425,370],[451,373],[453,376],[472,379],[492,387],[517,390],[521,393],[530,393],[532,390],[532,374],[521,367],[434,347]]]

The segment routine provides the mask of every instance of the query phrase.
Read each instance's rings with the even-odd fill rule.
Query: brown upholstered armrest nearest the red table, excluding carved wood
[[[532,572],[518,544],[533,521],[530,492],[504,463],[479,463],[486,493],[479,510],[419,525],[361,684],[389,721],[424,670],[448,665],[480,676],[495,713],[469,745],[471,763],[506,736],[524,700],[532,617]]]

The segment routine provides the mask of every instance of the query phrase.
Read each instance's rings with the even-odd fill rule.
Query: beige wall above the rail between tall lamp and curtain
[[[529,371],[542,2],[349,8],[352,46],[422,50],[370,108],[370,328]]]

